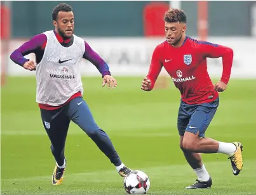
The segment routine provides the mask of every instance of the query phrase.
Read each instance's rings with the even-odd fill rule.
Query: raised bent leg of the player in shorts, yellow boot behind
[[[187,125],[183,138],[183,147],[187,151],[199,153],[222,153],[231,159],[234,175],[238,175],[243,166],[241,155],[242,146],[239,142],[225,143],[205,137],[206,128],[212,121],[219,98],[208,104],[201,104],[194,108],[193,114]]]

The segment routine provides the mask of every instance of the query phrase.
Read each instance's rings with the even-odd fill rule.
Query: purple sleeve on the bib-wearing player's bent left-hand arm
[[[29,41],[22,44],[17,50],[11,53],[10,58],[16,64],[23,66],[25,62],[28,62],[29,59],[24,58],[25,55],[30,53],[37,53],[38,50],[41,50],[43,46],[45,46],[47,41],[47,37],[45,34],[37,34],[32,37]]]

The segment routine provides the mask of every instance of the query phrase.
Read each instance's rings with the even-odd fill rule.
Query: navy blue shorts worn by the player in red
[[[185,131],[198,133],[199,137],[205,137],[205,131],[213,119],[215,112],[219,106],[219,97],[213,102],[204,104],[185,104],[180,100],[178,114],[178,130],[180,135],[184,135]]]

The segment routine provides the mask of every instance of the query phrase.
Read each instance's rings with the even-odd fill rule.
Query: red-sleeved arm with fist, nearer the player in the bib
[[[143,79],[142,86],[140,87],[144,91],[151,91],[154,88],[156,79],[158,79],[163,67],[161,62],[161,53],[161,45],[158,45],[152,54],[151,65],[149,66],[147,77]]]

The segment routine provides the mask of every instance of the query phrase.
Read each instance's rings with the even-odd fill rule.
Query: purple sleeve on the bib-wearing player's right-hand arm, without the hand
[[[96,53],[93,51],[88,43],[84,41],[85,44],[85,51],[83,58],[86,60],[89,60],[91,64],[95,65],[95,67],[98,69],[100,74],[102,74],[102,77],[105,75],[111,75],[111,72],[109,71],[109,65]]]

